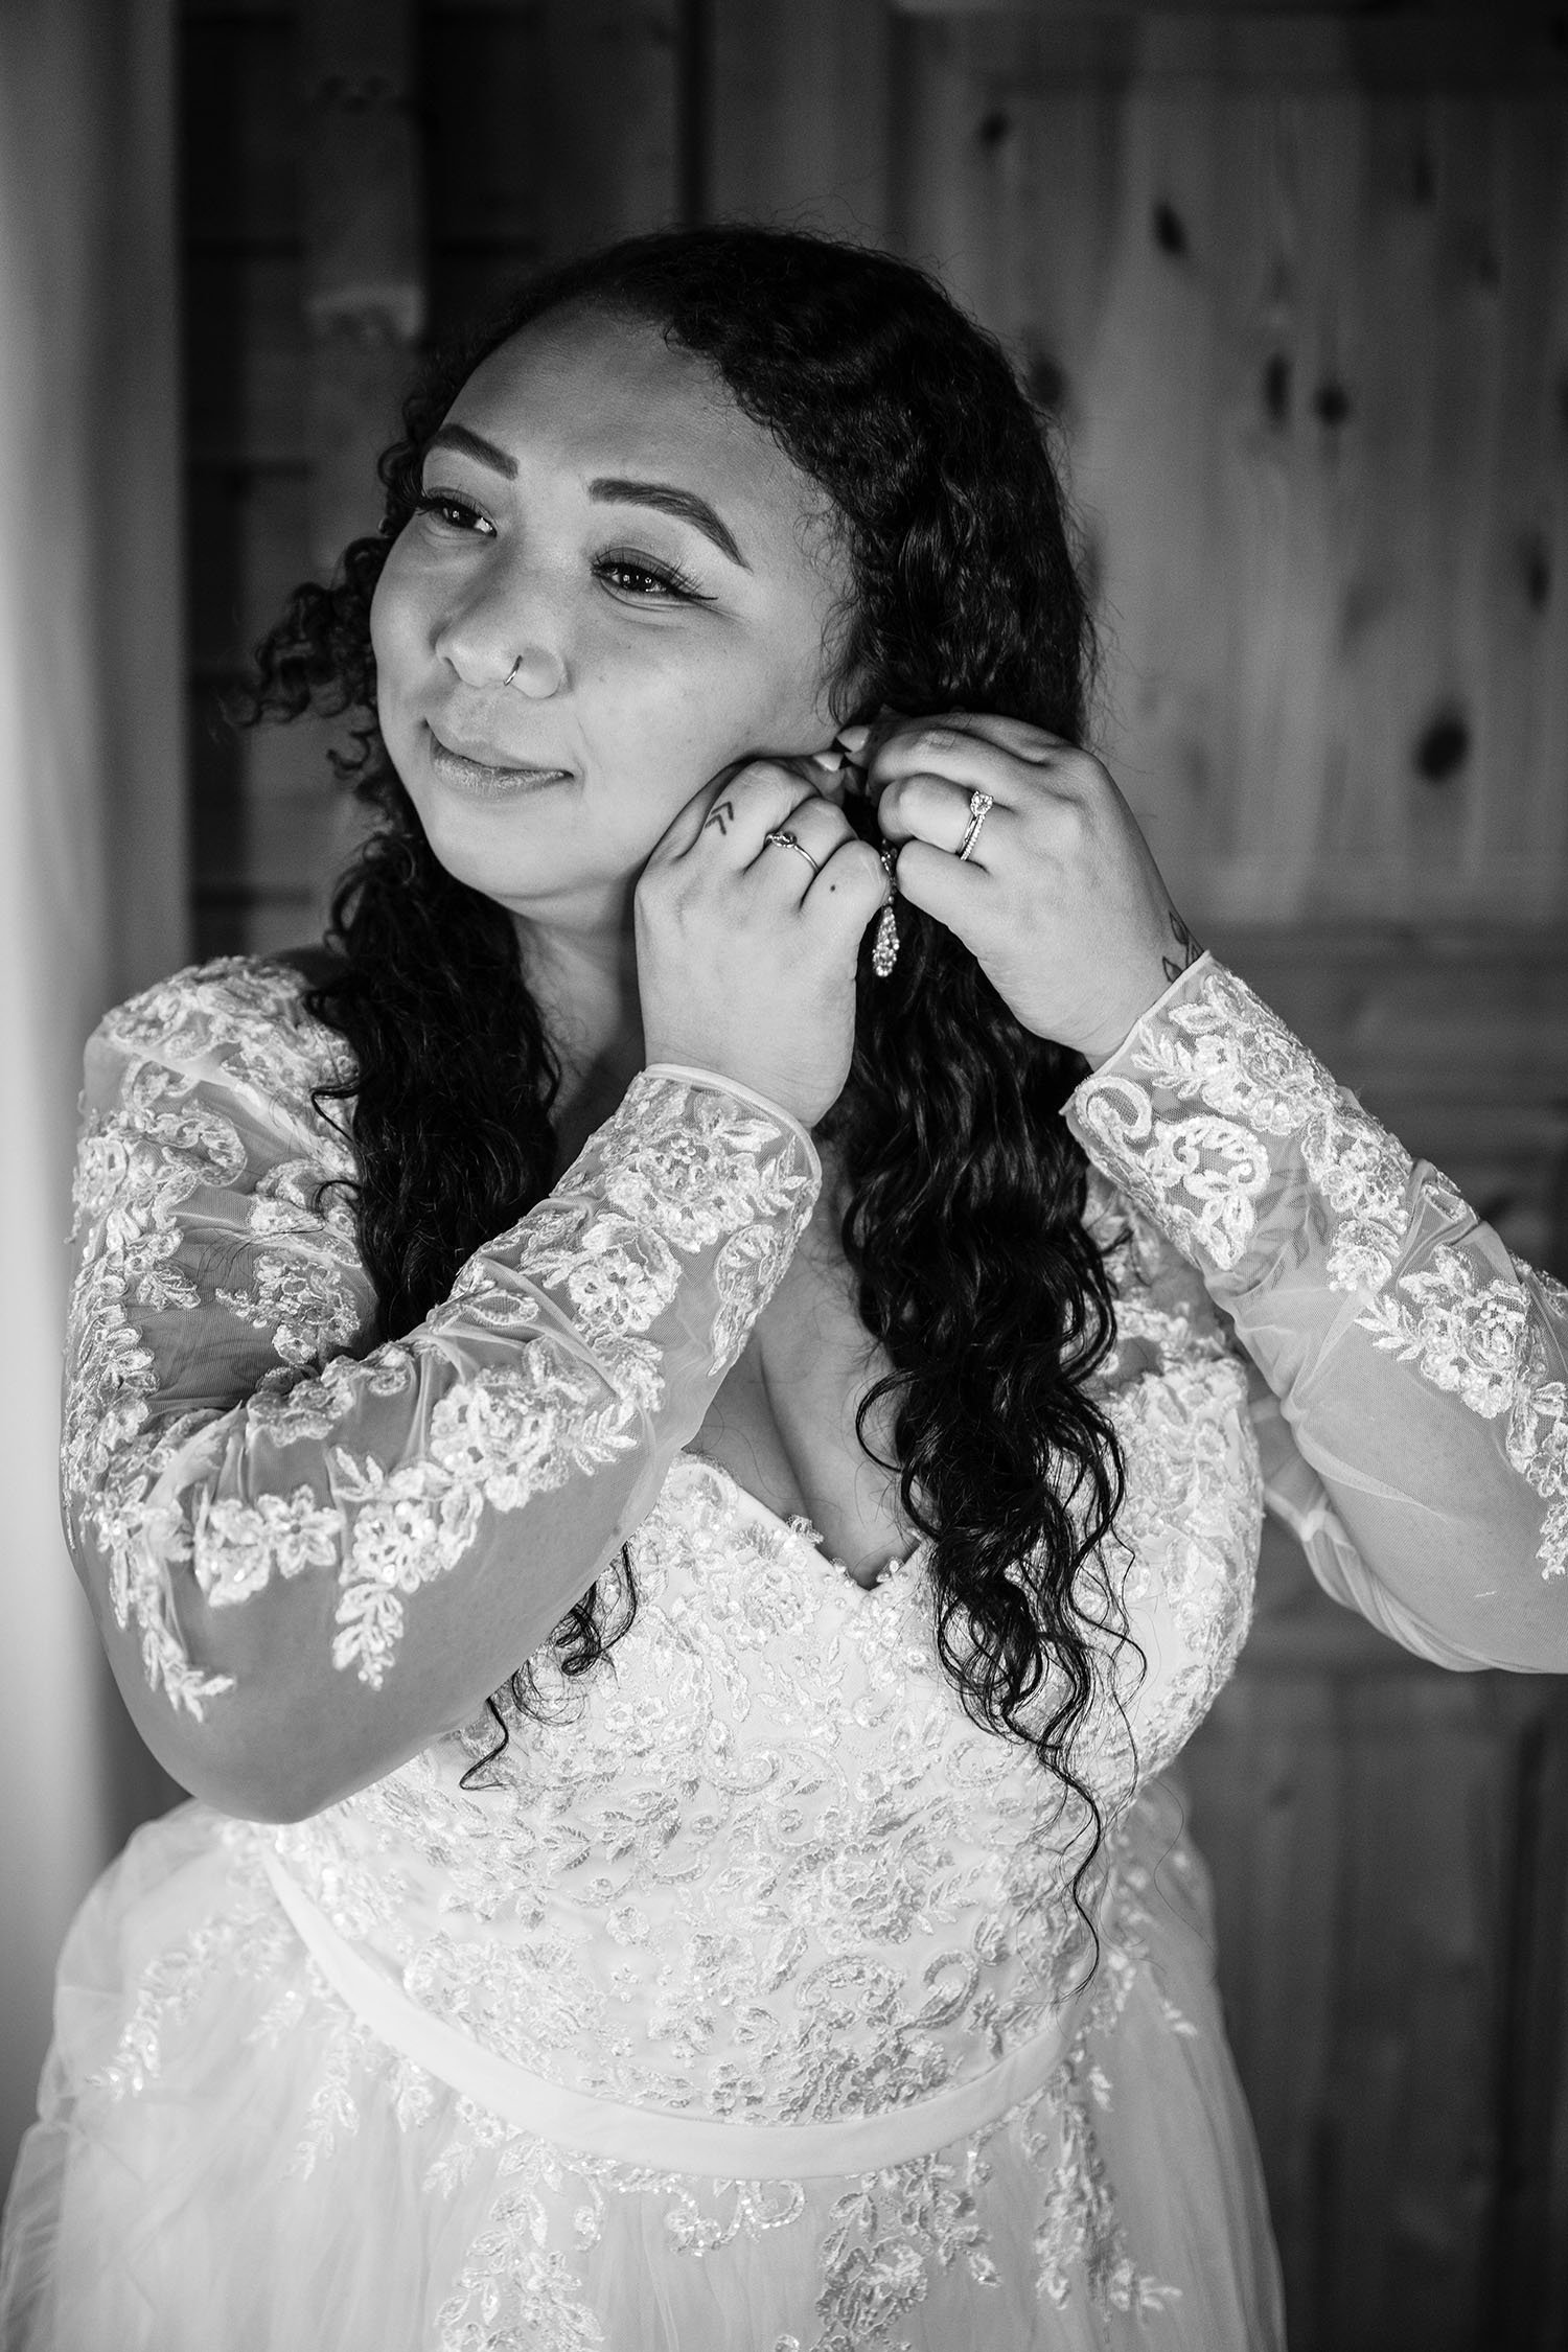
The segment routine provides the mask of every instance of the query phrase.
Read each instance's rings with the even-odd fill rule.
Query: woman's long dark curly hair
[[[559,1063],[524,983],[512,917],[430,851],[376,729],[369,607],[409,522],[421,459],[468,374],[564,303],[646,320],[717,369],[741,409],[832,501],[853,579],[832,708],[842,724],[994,710],[1081,741],[1093,633],[1046,426],[1001,346],[926,273],[849,242],[757,226],[663,230],[534,280],[440,353],[381,459],[386,517],[331,586],[296,588],[259,647],[252,717],[350,713],[341,776],[376,811],[334,903],[336,969],[308,1009],[353,1047],[353,1188],[381,1336],[418,1322],[458,1265],[555,1178]],[[844,708],[849,703],[849,708]],[[875,837],[865,804],[846,802]],[[903,1510],[931,1541],[936,1649],[973,1722],[1072,1769],[1117,1609],[1074,1592],[1121,1503],[1121,1454],[1086,1392],[1114,1343],[1086,1164],[1060,1110],[1081,1056],[1030,1035],[973,955],[900,903],[889,981],[860,953],[849,1082],[818,1127],[844,1169],[842,1242],[858,1312],[893,1371]],[[331,1091],[331,1089],[324,1089]],[[870,1446],[867,1446],[870,1451]],[[875,1456],[872,1456],[875,1458]],[[614,1581],[635,1609],[630,1548]],[[597,1585],[555,1632],[585,1672],[607,1649]],[[527,1668],[510,1682],[524,1712]],[[498,1700],[491,1712],[505,1717]],[[498,1755],[501,1750],[491,1750]],[[491,1762],[489,1757],[484,1762]],[[1081,1863],[1081,1870],[1088,1860]]]

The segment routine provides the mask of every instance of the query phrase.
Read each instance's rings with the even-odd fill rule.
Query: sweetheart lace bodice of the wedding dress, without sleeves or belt
[[[1112,1825],[1100,1875],[1246,1632],[1241,1402],[1213,1355],[1164,1376],[1152,1442],[1135,1397],[1114,1406],[1145,1439],[1133,1510],[1171,1534],[1121,1578],[1150,1672],[1124,1665],[1117,1705],[1107,1670],[1081,1738]],[[1088,1973],[1086,1813],[961,1712],[922,1555],[860,1590],[682,1454],[632,1562],[614,1670],[571,1691],[541,1656],[557,1719],[512,1717],[480,1785],[461,1773],[496,1745],[489,1717],[275,1832],[334,1924],[508,2058],[736,2122],[926,2098],[1039,2032]]]

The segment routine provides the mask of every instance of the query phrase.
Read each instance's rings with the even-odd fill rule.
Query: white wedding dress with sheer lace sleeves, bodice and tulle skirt
[[[233,1691],[190,1628],[296,1578],[362,1698],[437,1583],[614,1599],[630,1538],[637,1613],[576,1684],[541,1651],[545,1719],[477,1771],[489,1715],[310,1818],[136,1832],[61,1957],[5,2352],[1281,2345],[1159,1776],[1246,1637],[1265,1486],[1408,1646],[1568,1665],[1568,1294],[1213,957],[1079,1087],[1128,1463],[1079,1910],[1086,1809],[964,1715],[922,1550],[865,1590],[693,1451],[809,1136],[642,1073],[369,1350],[301,985],[207,964],[89,1047],[80,1555],[202,1719]]]

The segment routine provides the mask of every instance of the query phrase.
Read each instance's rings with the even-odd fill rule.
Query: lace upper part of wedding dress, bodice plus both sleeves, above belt
[[[581,1684],[536,1651],[545,1722],[512,1717],[468,1788],[489,1715],[235,1837],[273,1844],[418,2002],[604,2096],[825,2119],[1027,2039],[1088,1969],[1081,1802],[964,1717],[919,1550],[860,1590],[689,1451],[811,1211],[809,1138],[722,1080],[644,1073],[418,1334],[367,1348],[353,1223],[315,1195],[348,1174],[310,1105],[339,1051],[294,974],[247,960],[94,1040],[78,1552],[148,1682],[197,1715],[233,1675],[188,1628],[256,1595],[327,1592],[334,1672],[369,1693],[437,1583],[527,1578],[574,1522],[611,1602],[630,1536],[639,1606]],[[1246,1635],[1255,1430],[1340,1599],[1453,1663],[1563,1663],[1542,1571],[1563,1564],[1568,1301],[1211,957],[1070,1120],[1098,1162],[1119,1331],[1095,1383],[1128,1465],[1081,1571],[1107,1628],[1074,1750],[1107,1830],[1093,1910],[1135,1788]]]

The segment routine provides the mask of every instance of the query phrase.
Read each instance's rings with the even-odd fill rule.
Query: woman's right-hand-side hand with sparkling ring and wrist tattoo
[[[1204,953],[1098,760],[1044,727],[893,710],[839,739],[898,849],[898,891],[971,950],[1037,1037],[1091,1063]],[[990,793],[969,858],[969,795]]]

